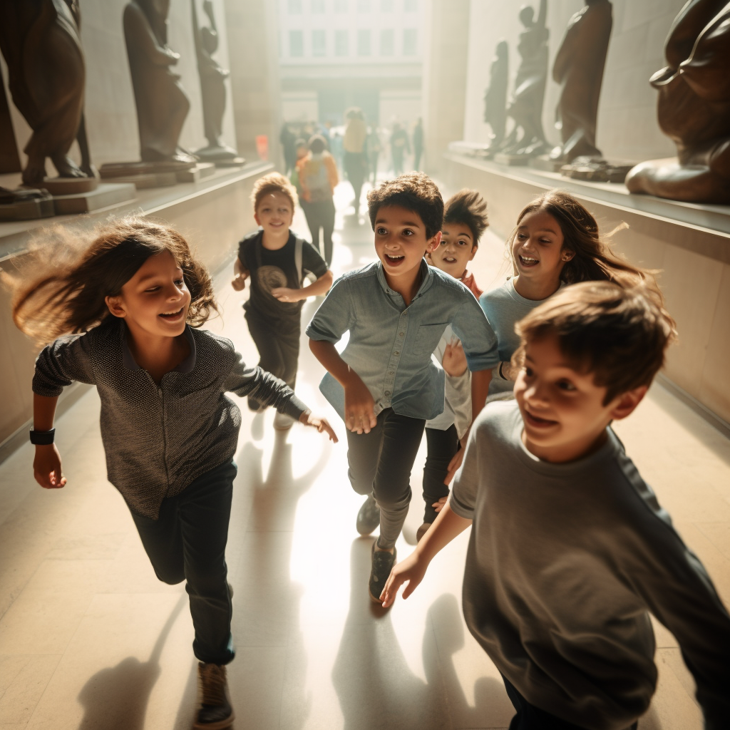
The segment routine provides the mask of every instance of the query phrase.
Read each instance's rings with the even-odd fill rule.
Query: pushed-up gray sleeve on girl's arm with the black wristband
[[[96,384],[88,347],[88,334],[61,337],[44,347],[36,360],[33,392],[57,398],[74,381]]]

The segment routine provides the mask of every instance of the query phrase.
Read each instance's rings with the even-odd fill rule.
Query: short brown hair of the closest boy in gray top
[[[594,383],[606,388],[604,405],[651,385],[677,336],[675,320],[655,290],[608,281],[562,288],[520,320],[515,331],[521,340],[512,357],[515,366],[522,366],[528,342],[553,335],[574,368],[593,373]]]

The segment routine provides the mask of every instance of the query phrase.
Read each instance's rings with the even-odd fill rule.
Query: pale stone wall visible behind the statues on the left
[[[191,2],[198,4],[199,22],[207,23],[201,11],[201,0],[171,0],[169,12],[169,46],[180,53],[175,71],[191,101],[191,110],[185,120],[180,144],[188,150],[204,147],[203,110],[197,69]],[[218,23],[220,45],[215,58],[223,68],[230,68],[226,10],[223,0],[212,0]],[[139,159],[139,135],[134,92],[124,43],[122,13],[127,0],[81,0],[81,37],[86,56],[86,129],[93,163],[98,167],[105,162],[134,161]],[[7,69],[3,68],[7,88]],[[228,84],[230,87],[230,83]],[[9,99],[8,94],[8,99]],[[12,123],[20,150],[26,145],[30,130],[26,121],[11,103]],[[230,88],[223,118],[223,139],[236,145],[233,106]],[[74,145],[73,155],[78,158]],[[25,155],[22,155],[25,164]],[[53,174],[48,165],[49,174]]]

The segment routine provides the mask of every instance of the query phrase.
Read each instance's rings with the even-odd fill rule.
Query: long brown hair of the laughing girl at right
[[[661,299],[661,291],[656,283],[656,272],[633,266],[614,253],[601,238],[596,219],[572,195],[561,190],[544,193],[523,208],[517,219],[517,226],[526,215],[537,210],[544,210],[558,221],[563,234],[563,248],[574,254],[561,272],[561,280],[566,284],[580,281],[611,281],[624,288],[642,284]],[[517,226],[507,241],[510,257]],[[623,223],[608,234],[608,237],[627,227]]]

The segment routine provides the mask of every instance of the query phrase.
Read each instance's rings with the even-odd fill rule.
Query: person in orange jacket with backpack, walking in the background
[[[327,142],[315,134],[309,142],[309,152],[296,164],[301,193],[299,202],[312,234],[312,246],[322,252],[327,268],[332,262],[332,231],[334,231],[334,188],[339,183],[337,165],[327,151]],[[322,247],[320,247],[320,229]]]

